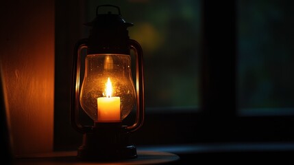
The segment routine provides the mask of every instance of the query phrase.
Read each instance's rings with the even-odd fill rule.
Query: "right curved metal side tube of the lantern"
[[[127,126],[130,132],[139,129],[144,122],[145,115],[145,101],[144,101],[144,67],[143,67],[143,50],[140,44],[130,39],[130,48],[134,51],[136,56],[136,120],[132,126]]]

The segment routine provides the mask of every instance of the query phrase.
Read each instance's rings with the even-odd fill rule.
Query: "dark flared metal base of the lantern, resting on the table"
[[[130,133],[121,123],[95,123],[93,131],[85,133],[83,144],[79,146],[79,159],[134,159],[136,146],[130,143]]]

